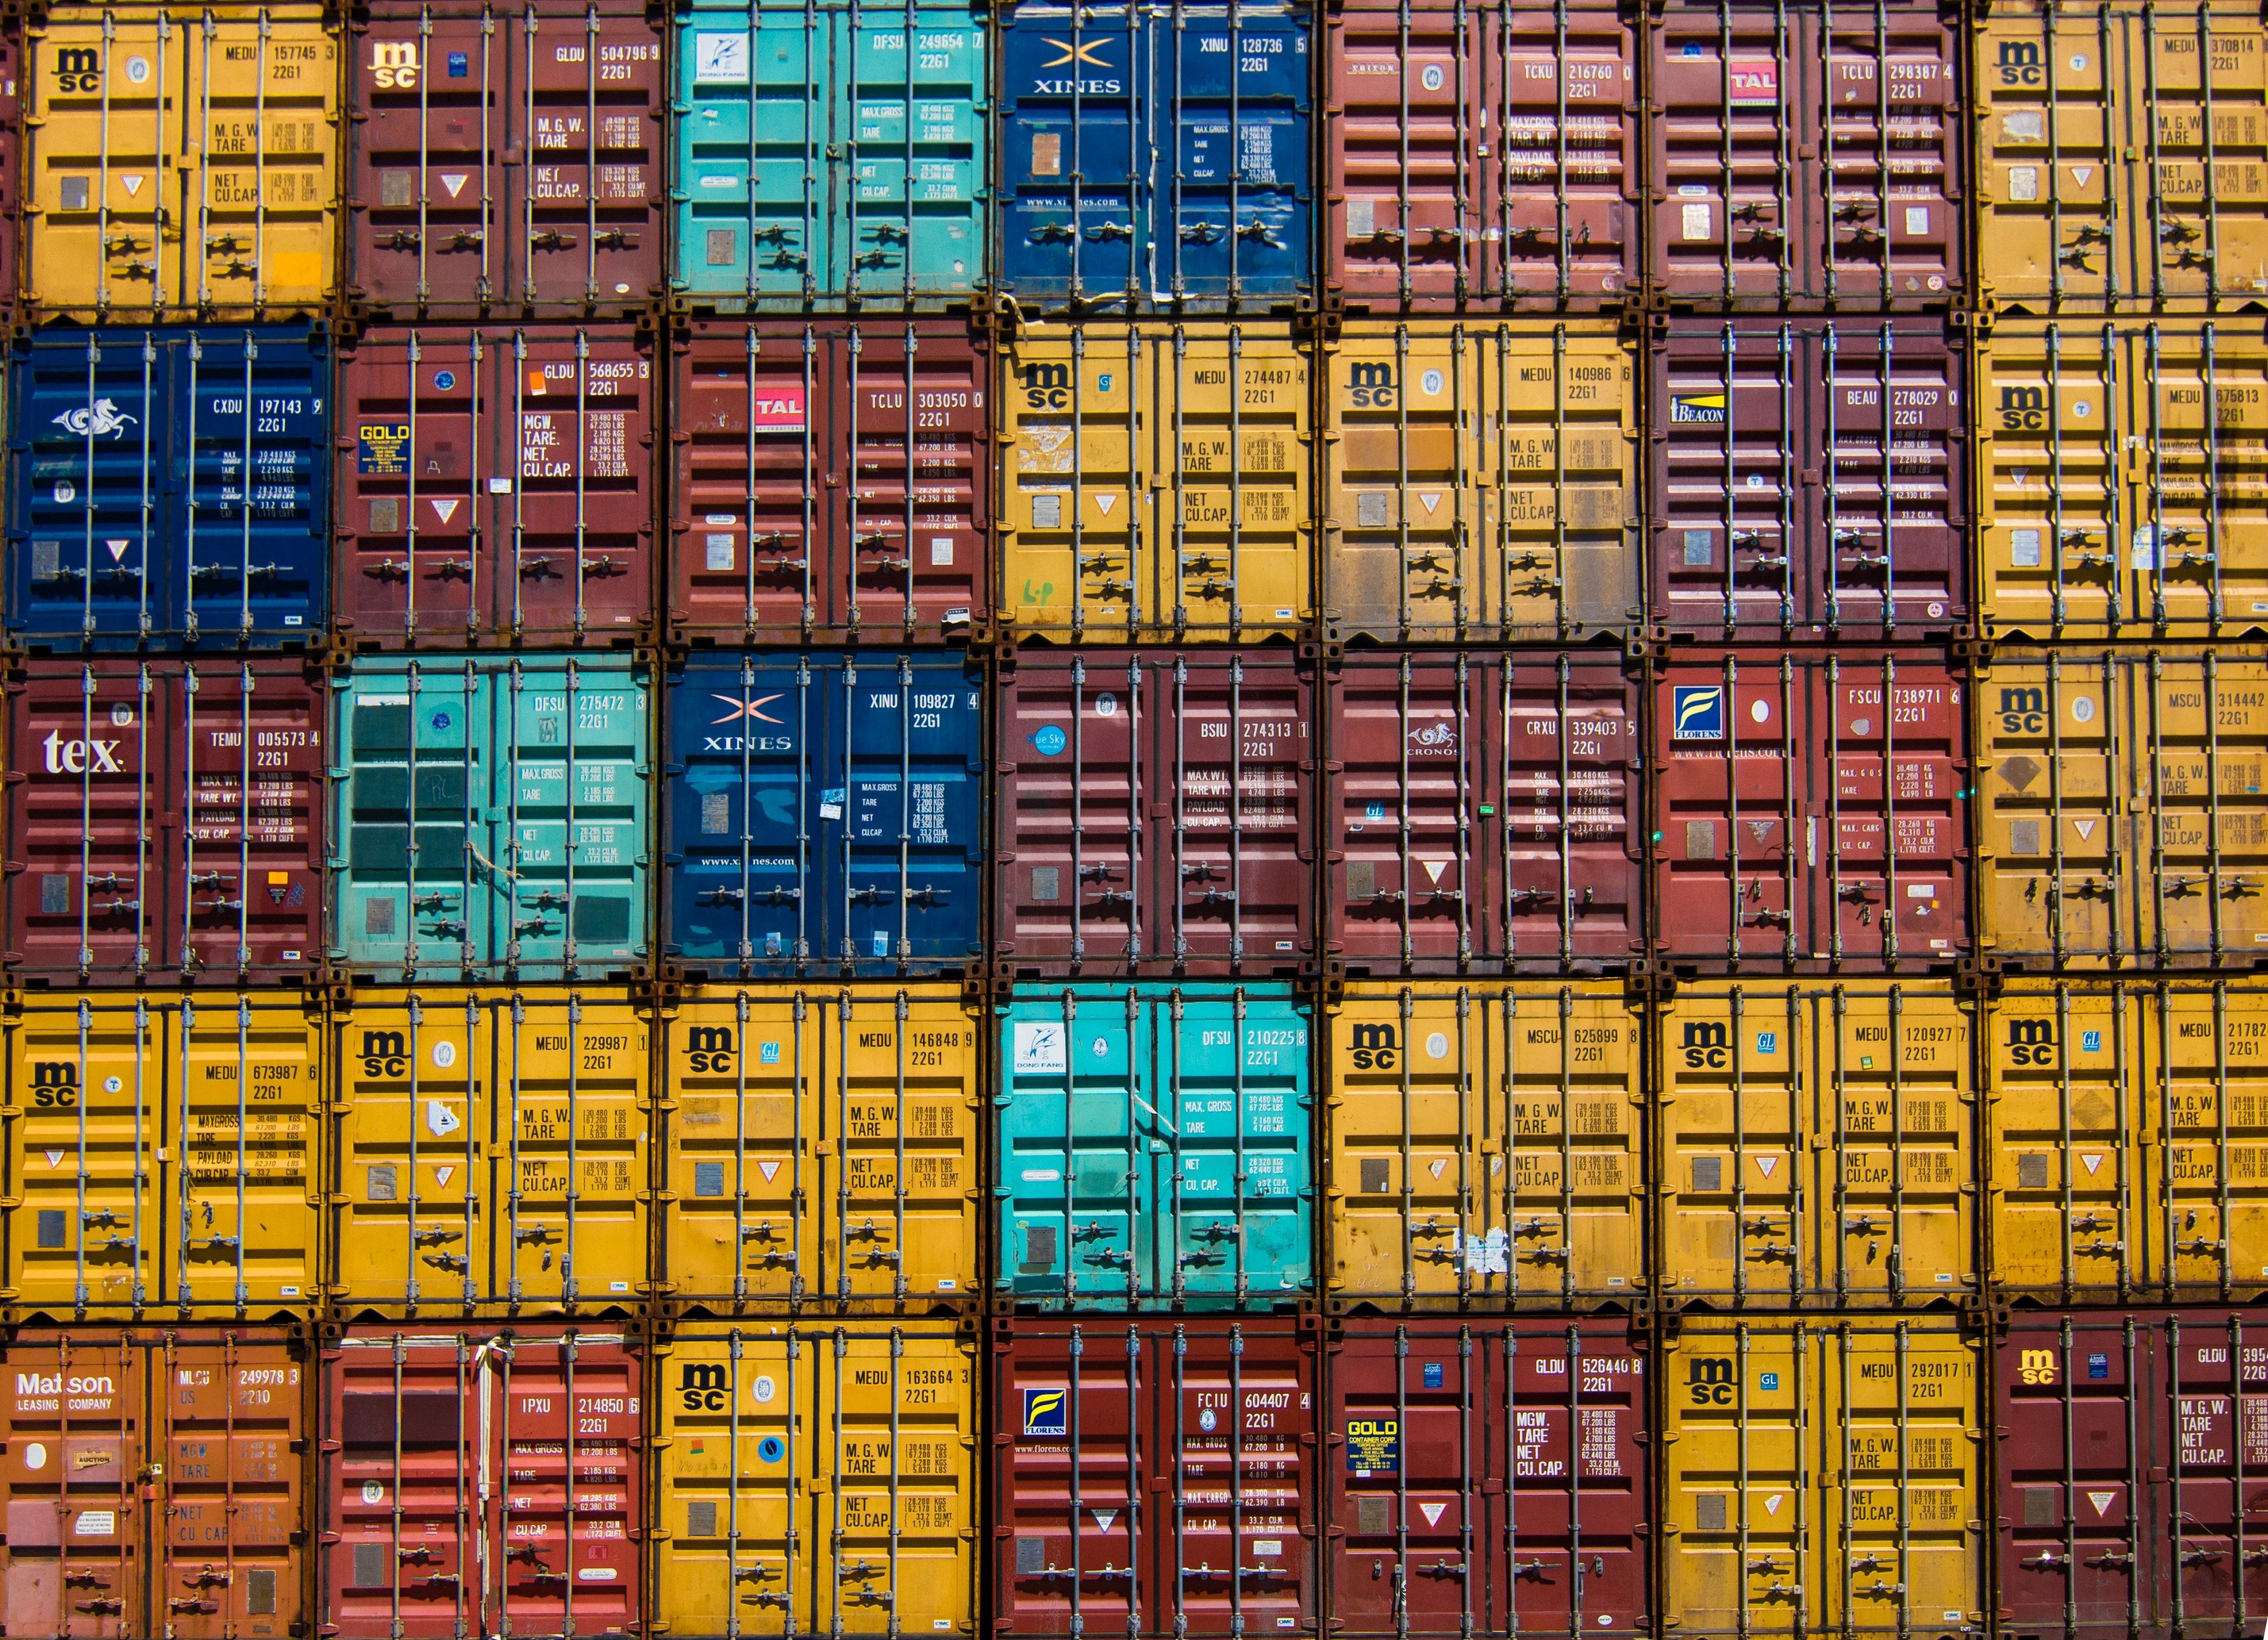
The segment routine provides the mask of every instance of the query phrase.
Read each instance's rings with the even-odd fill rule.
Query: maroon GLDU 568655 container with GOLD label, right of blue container
[[[338,356],[333,622],[349,644],[653,633],[653,333],[374,327]]]

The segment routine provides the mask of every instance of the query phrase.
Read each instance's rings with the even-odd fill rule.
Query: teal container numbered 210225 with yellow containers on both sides
[[[998,1293],[1036,1309],[1311,1297],[1309,1025],[1284,984],[1016,987]]]

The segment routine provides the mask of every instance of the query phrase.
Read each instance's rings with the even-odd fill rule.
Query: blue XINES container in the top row
[[[1000,66],[1018,302],[1268,308],[1315,288],[1306,11],[1023,5]]]

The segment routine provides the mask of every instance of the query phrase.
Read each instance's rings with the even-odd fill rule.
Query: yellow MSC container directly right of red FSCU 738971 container
[[[1982,953],[2043,973],[2268,953],[2268,651],[2003,649],[1975,694]]]

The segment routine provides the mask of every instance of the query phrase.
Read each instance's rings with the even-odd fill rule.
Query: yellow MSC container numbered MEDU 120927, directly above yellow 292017
[[[1678,987],[1653,1046],[1662,1302],[1975,1300],[1975,1032],[1946,980]]]

